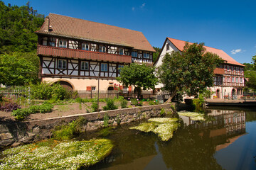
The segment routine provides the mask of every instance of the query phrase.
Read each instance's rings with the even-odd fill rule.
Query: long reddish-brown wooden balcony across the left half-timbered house
[[[104,62],[122,62],[131,63],[132,56],[129,55],[113,55],[105,52],[92,52],[86,50],[73,50],[61,47],[50,47],[38,45],[37,54],[49,57],[68,57],[81,60],[97,60]]]

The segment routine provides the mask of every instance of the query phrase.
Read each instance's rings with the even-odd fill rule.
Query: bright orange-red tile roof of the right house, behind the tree
[[[186,41],[176,40],[174,38],[168,38],[168,39],[175,45],[175,47],[177,47],[178,50],[183,51],[183,47],[184,47]],[[191,42],[188,42],[188,43],[192,44]],[[204,46],[204,47],[206,48],[207,52],[212,52],[212,53],[220,56],[220,58],[227,61],[228,64],[235,64],[235,65],[240,65],[240,66],[245,67],[243,64],[240,64],[239,62],[235,61],[227,53],[223,52],[223,50],[219,50],[219,49],[216,49],[213,47],[207,47],[207,46]]]

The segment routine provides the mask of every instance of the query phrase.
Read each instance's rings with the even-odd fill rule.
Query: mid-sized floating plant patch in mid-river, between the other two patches
[[[158,134],[161,140],[168,141],[174,136],[174,132],[180,125],[178,118],[151,118],[148,123],[141,123],[130,129],[154,132]]]

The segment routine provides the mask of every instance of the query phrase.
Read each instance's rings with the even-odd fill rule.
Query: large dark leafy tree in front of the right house
[[[213,86],[213,70],[221,63],[220,57],[206,52],[203,43],[189,45],[182,52],[171,52],[164,56],[158,68],[159,79],[164,90],[169,91],[171,101],[176,94],[194,96],[206,87]]]

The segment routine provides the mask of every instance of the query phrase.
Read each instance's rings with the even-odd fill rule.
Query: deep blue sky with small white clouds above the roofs
[[[4,0],[22,6],[28,0]],[[38,13],[57,13],[142,31],[152,46],[166,37],[225,51],[240,63],[256,55],[255,0],[149,1],[149,0],[30,0]]]

